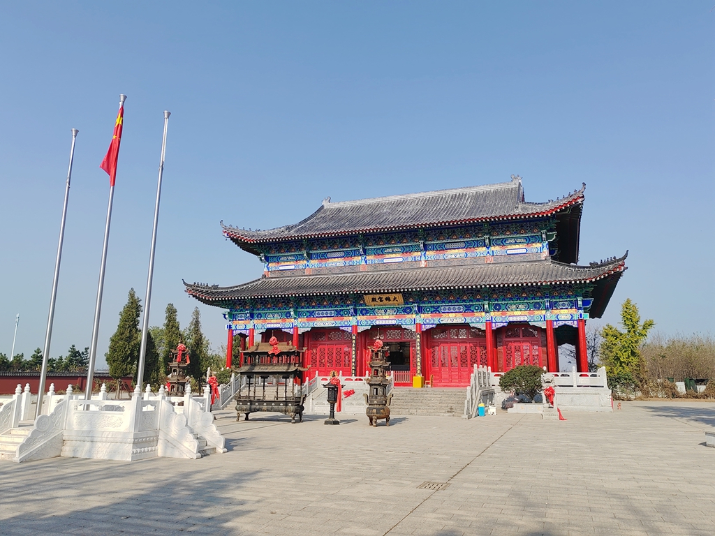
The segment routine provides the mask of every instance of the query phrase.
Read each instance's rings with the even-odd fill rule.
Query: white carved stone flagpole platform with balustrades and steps
[[[29,386],[18,385],[15,396],[0,407],[0,460],[29,462],[51,457],[135,461],[151,457],[197,459],[226,452],[214,425],[209,387],[203,397],[167,397],[164,387],[153,395],[137,388],[130,400],[84,399],[67,387],[64,395],[50,386],[43,413],[27,420]],[[34,417],[34,415],[32,415]]]

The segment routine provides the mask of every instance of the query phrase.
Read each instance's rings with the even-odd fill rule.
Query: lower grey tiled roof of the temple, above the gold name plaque
[[[552,260],[503,264],[456,264],[383,272],[262,277],[235,287],[187,284],[186,292],[199,301],[220,305],[259,297],[361,294],[452,288],[512,287],[533,284],[596,282],[626,269],[626,256],[588,267]]]

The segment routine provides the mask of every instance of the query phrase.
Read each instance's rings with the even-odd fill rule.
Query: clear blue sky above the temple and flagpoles
[[[267,229],[324,197],[586,182],[581,264],[628,271],[656,329],[712,332],[714,2],[23,2],[0,6],[0,352],[44,341],[79,129],[51,354],[89,345],[127,94],[98,355],[144,297],[169,109],[151,324],[189,282],[260,277],[220,220]],[[214,346],[219,309],[202,309]]]

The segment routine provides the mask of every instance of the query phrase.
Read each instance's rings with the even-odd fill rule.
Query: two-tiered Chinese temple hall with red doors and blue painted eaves
[[[463,387],[475,364],[558,372],[561,344],[576,347],[578,370],[587,371],[586,320],[603,314],[626,255],[576,264],[585,189],[526,202],[521,177],[512,176],[327,198],[297,224],[250,231],[222,223],[225,237],[260,258],[260,279],[184,284],[225,310],[229,346],[232,334],[242,334],[244,348],[275,336],[306,349],[310,377],[366,374],[376,339],[390,352],[397,385]]]

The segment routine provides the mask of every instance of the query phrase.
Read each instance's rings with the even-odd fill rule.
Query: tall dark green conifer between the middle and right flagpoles
[[[104,354],[109,365],[109,375],[114,379],[134,376],[139,362],[142,332],[139,331],[139,316],[142,314],[141,300],[134,289],[129,290],[127,304],[119,313],[119,325],[109,339],[109,351]],[[119,398],[117,382],[117,398]]]

